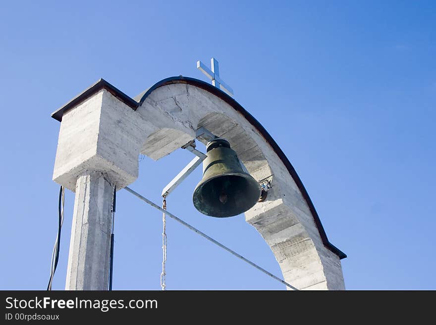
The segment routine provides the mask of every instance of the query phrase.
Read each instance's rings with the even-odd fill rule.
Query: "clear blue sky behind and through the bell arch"
[[[436,289],[434,1],[2,1],[4,174],[0,289],[45,289],[57,227],[51,112],[100,78],[130,96],[210,65],[303,181],[342,260],[347,289]],[[160,202],[191,160],[140,162],[132,188]],[[243,216],[192,206],[193,173],[168,210],[281,276]],[[67,191],[54,289],[63,289],[74,194]],[[161,214],[118,192],[114,289],[160,289]],[[168,289],[284,289],[167,223]]]

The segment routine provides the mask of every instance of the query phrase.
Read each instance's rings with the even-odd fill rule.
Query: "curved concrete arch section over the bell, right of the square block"
[[[136,113],[152,122],[140,152],[158,160],[195,139],[202,126],[227,139],[256,180],[271,182],[267,199],[248,210],[245,219],[271,247],[285,281],[299,289],[345,289],[340,263],[345,255],[328,242],[312,202],[265,135],[225,96],[183,80],[140,94]]]

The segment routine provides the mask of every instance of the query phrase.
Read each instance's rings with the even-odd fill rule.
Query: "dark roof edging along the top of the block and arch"
[[[91,96],[93,93],[96,93],[100,91],[101,89],[106,89],[110,93],[112,93],[114,96],[119,98],[122,102],[130,106],[132,109],[136,110],[144,100],[152,93],[154,90],[156,90],[159,87],[169,85],[169,84],[189,84],[192,86],[196,86],[198,88],[204,89],[208,91],[209,93],[213,93],[214,95],[218,96],[225,102],[227,102],[230,106],[232,106],[236,111],[240,112],[249,122],[251,125],[253,125],[260,134],[267,140],[267,142],[271,145],[274,152],[277,154],[277,156],[281,159],[283,164],[285,165],[286,169],[289,171],[289,174],[297,184],[298,188],[301,191],[301,194],[303,195],[304,199],[307,202],[307,205],[309,206],[309,210],[312,213],[312,216],[314,218],[315,224],[318,228],[318,231],[320,232],[321,238],[323,240],[324,245],[331,250],[333,253],[335,253],[340,259],[346,258],[347,255],[342,252],[340,249],[338,249],[336,246],[331,244],[328,241],[326,231],[324,230],[324,227],[321,223],[320,217],[317,213],[317,210],[315,209],[315,206],[312,202],[312,200],[309,197],[309,194],[304,187],[303,183],[301,182],[300,177],[298,176],[297,172],[295,171],[294,167],[290,163],[289,159],[286,157],[286,155],[283,153],[283,151],[280,149],[278,144],[272,139],[271,135],[265,130],[265,128],[251,115],[249,112],[247,112],[236,100],[234,100],[232,97],[227,95],[226,93],[220,91],[218,88],[204,82],[198,79],[189,78],[189,77],[170,77],[161,80],[160,82],[154,84],[149,90],[147,90],[146,93],[141,97],[139,102],[135,101],[131,97],[127,96],[125,93],[122,93],[112,85],[110,85],[107,81],[100,79],[96,84],[88,88],[86,91],[72,99],[69,103],[64,105],[63,107],[59,108],[57,111],[55,111],[52,114],[52,117],[58,121],[62,120],[63,113],[68,110],[71,107],[76,106],[80,102],[87,99],[89,96]]]

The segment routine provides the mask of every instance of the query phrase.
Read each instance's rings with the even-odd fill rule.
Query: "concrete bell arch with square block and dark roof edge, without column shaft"
[[[139,153],[158,160],[194,139],[204,126],[229,140],[255,179],[271,181],[267,199],[248,210],[245,219],[271,247],[284,280],[299,289],[345,288],[340,264],[345,254],[328,242],[304,186],[277,144],[233,98],[183,77],[165,79],[135,100],[105,81],[84,93],[53,114],[62,121],[54,180],[76,191],[76,200],[83,175],[101,172],[120,189],[138,177]],[[69,274],[79,272],[73,238],[71,247]],[[82,287],[76,281],[67,288]]]

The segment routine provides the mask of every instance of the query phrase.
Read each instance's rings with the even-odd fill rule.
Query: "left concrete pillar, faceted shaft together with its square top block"
[[[113,188],[136,180],[153,131],[137,115],[106,89],[62,115],[53,179],[76,193],[66,290],[108,289]]]

